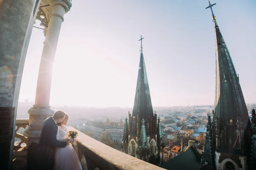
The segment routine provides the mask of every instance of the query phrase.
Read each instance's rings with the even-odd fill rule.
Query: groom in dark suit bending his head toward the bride
[[[69,142],[59,142],[56,138],[58,131],[56,124],[62,122],[64,118],[63,111],[56,111],[53,116],[44,121],[37,150],[38,167],[36,169],[53,170],[55,148],[66,147],[69,144]]]

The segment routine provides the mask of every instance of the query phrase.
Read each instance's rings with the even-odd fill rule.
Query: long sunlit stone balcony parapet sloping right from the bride
[[[76,129],[69,126],[68,130]],[[100,170],[164,170],[113,149],[79,130],[76,131],[78,132],[78,137],[74,148],[84,169],[87,166],[88,170],[94,170],[96,167]]]

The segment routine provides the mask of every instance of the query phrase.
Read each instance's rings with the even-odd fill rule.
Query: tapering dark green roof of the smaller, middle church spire
[[[140,51],[140,66],[139,66],[139,73],[138,73],[138,79],[137,79],[137,87],[136,87],[132,117],[134,116],[137,117],[137,114],[139,114],[140,120],[146,119],[147,115],[148,115],[148,118],[154,117],[149,85],[148,85],[148,77],[147,77],[142,48]]]

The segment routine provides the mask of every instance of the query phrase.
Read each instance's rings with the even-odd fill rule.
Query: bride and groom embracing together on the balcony
[[[56,111],[44,121],[37,150],[38,168],[40,170],[82,170],[81,162],[68,138],[65,125],[68,115]],[[87,169],[86,169],[87,170]]]

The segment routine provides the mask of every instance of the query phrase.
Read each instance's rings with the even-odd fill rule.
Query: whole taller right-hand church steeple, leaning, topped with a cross
[[[207,7],[212,12],[216,43],[215,105],[210,128],[211,140],[207,140],[205,145],[211,149],[211,155],[204,155],[203,158],[207,159],[202,160],[202,164],[209,166],[212,162],[215,169],[222,169],[224,168],[223,161],[236,155],[239,159],[232,159],[232,166],[236,167],[235,169],[238,167],[244,169],[241,166],[246,164],[247,158],[245,157],[250,152],[247,147],[250,142],[247,127],[249,125],[248,111],[235,66],[212,11],[212,6],[215,4],[209,2]],[[207,143],[209,141],[211,144]],[[209,160],[210,156],[212,160]]]

